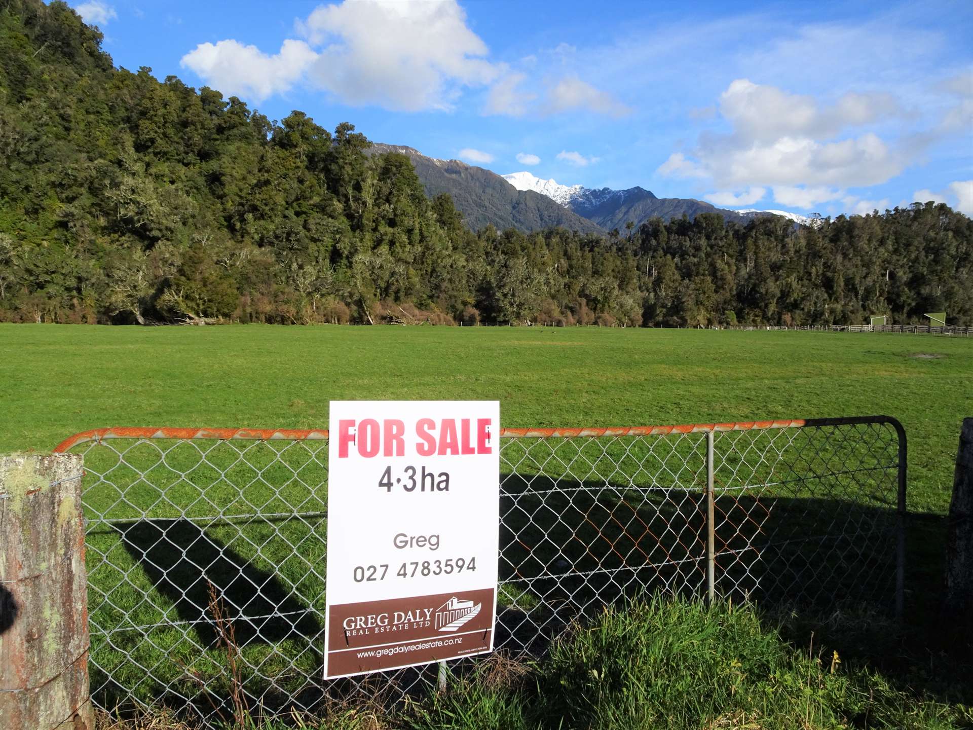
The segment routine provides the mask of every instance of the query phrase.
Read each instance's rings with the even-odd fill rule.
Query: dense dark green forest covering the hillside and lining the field
[[[116,69],[62,2],[0,8],[0,321],[973,324],[973,223],[471,232],[350,124]]]

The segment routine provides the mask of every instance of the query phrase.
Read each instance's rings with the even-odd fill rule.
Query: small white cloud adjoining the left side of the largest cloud
[[[200,43],[179,65],[192,69],[208,86],[227,95],[263,101],[288,91],[317,58],[304,41],[284,41],[280,53],[264,54],[256,46],[233,40]]]

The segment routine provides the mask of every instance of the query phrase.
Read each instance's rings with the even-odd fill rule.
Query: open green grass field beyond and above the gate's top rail
[[[5,452],[110,425],[327,427],[356,398],[496,398],[506,426],[884,414],[909,434],[910,509],[938,515],[973,415],[973,340],[926,335],[0,325],[0,352]]]

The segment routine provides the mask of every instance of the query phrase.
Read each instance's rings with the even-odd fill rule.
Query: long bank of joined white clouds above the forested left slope
[[[469,27],[457,0],[341,0],[318,5],[296,20],[295,32],[304,40],[285,41],[278,55],[228,39],[215,47],[201,44],[183,56],[183,65],[220,91],[246,92],[257,100],[303,80],[342,104],[391,111],[451,111],[464,90],[482,88],[487,116],[583,109],[624,117],[632,111],[570,71],[578,65],[573,60],[578,52],[566,44],[539,52],[551,60],[547,66],[557,63],[563,74],[545,80],[546,89],[531,78],[537,55],[513,64],[491,62],[486,43]],[[302,61],[313,57],[282,68],[279,56],[296,43],[307,52]]]

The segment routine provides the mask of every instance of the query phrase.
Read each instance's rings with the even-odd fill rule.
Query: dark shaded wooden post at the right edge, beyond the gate
[[[959,432],[947,529],[946,609],[970,620],[973,615],[973,419],[963,419]]]

